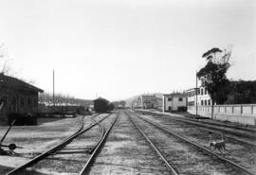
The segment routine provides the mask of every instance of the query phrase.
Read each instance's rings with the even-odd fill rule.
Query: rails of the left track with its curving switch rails
[[[83,117],[82,117],[81,118],[81,124],[80,124],[80,127],[79,127],[78,131],[75,131],[72,135],[70,135],[67,138],[65,138],[58,145],[56,145],[56,146],[54,146],[54,147],[52,147],[50,149],[47,149],[45,152],[43,152],[40,155],[36,156],[35,158],[27,161],[27,163],[25,163],[24,165],[18,166],[16,168],[12,169],[8,173],[6,173],[6,175],[12,175],[12,174],[31,174],[30,170],[27,171],[27,167],[30,168],[30,166],[38,166],[38,163],[42,164],[42,162],[48,162],[48,161],[54,160],[54,158],[52,158],[52,157],[50,158],[49,156],[50,155],[54,156],[54,155],[63,154],[64,152],[61,152],[62,149],[64,149],[68,145],[72,145],[72,143],[74,141],[76,141],[77,138],[81,137],[84,132],[87,133],[88,131],[90,131],[91,129],[93,129],[95,126],[98,125],[101,128],[101,137],[100,137],[100,139],[98,139],[98,141],[96,142],[96,144],[94,146],[90,147],[89,151],[81,151],[81,154],[84,155],[84,154],[89,154],[91,152],[96,151],[97,149],[99,149],[102,146],[102,141],[107,136],[107,131],[105,131],[105,128],[101,125],[101,122],[103,122],[106,118],[109,118],[111,115],[112,114],[108,114],[108,115],[106,115],[104,117],[99,117],[98,120],[96,120],[96,118],[92,118],[92,120],[94,122],[91,123],[87,127],[84,127],[84,125],[83,125]],[[118,117],[118,114],[116,115],[115,118],[117,118],[117,117]],[[114,123],[115,122],[113,122],[111,125],[114,125]],[[65,153],[68,154],[68,152],[65,152]],[[76,153],[77,152],[73,152],[73,154],[76,154]],[[91,154],[91,155],[93,155],[93,154]],[[88,155],[86,155],[86,156],[88,157]],[[88,159],[87,163],[91,162],[90,159]],[[76,161],[74,161],[74,162],[76,162]],[[43,163],[43,166],[45,166],[44,164],[45,163]],[[48,164],[48,165],[51,165],[51,163]],[[83,163],[83,165],[84,165],[84,163]],[[54,166],[54,164],[52,164],[51,166]],[[83,169],[83,167],[82,167],[82,169]],[[32,169],[32,170],[36,170],[36,169]],[[36,173],[36,172],[34,172],[34,173]],[[34,174],[34,173],[32,172],[32,174]],[[80,174],[82,174],[82,173],[80,173]]]

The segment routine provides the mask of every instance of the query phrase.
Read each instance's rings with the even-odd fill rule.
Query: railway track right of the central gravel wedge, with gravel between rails
[[[172,174],[254,174],[155,122],[128,116]]]

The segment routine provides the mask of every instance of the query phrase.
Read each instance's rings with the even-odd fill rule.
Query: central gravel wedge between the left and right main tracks
[[[148,143],[121,113],[90,174],[169,174]]]

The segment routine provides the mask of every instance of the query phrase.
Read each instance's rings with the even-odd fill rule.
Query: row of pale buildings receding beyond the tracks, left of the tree
[[[156,109],[162,112],[184,111],[191,106],[210,106],[210,94],[205,87],[192,88],[184,93],[141,95],[134,99],[133,108]]]

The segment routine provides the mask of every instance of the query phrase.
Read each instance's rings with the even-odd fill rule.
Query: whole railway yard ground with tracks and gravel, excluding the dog
[[[22,149],[0,156],[0,174],[256,174],[255,132],[132,110],[40,118],[11,129],[5,142]]]

